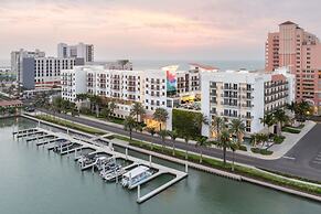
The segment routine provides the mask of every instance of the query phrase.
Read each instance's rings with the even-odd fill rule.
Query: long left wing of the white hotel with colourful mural
[[[178,71],[178,66],[162,69],[121,71],[108,65],[75,66],[62,71],[62,97],[75,101],[77,94],[89,93],[117,100],[124,118],[133,101],[139,101],[152,115],[157,108],[173,108],[184,96],[200,95],[200,68]],[[119,108],[120,109],[120,108]]]

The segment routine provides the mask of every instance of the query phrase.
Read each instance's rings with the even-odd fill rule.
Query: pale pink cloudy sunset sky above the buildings
[[[263,61],[281,22],[321,36],[319,9],[320,0],[0,0],[0,60],[85,42],[98,61]]]

